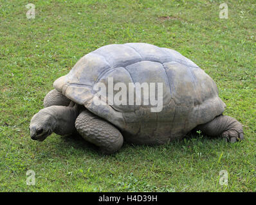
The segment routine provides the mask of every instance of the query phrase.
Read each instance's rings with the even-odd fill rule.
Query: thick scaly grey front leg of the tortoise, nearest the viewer
[[[88,110],[78,115],[75,127],[85,140],[100,147],[100,151],[104,154],[116,152],[123,145],[123,136],[120,131]]]

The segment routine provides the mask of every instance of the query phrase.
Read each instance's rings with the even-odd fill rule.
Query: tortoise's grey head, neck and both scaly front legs
[[[70,100],[69,106],[66,104],[66,97],[57,90],[51,90],[44,97],[46,108],[36,113],[30,122],[32,140],[42,142],[51,133],[65,136],[78,131],[87,142],[97,145],[103,154],[111,154],[122,147],[123,136],[113,125]]]

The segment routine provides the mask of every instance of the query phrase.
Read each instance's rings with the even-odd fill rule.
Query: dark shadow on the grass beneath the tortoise
[[[98,157],[107,158],[116,158],[120,155],[125,155],[129,157],[140,157],[140,154],[142,156],[145,156],[145,154],[161,155],[161,152],[163,151],[173,152],[186,156],[199,151],[207,151],[212,149],[218,150],[227,146],[221,138],[203,136],[196,133],[195,131],[188,133],[188,135],[186,135],[181,140],[173,140],[163,145],[135,145],[133,143],[125,141],[120,151],[109,155],[102,154],[96,145],[87,142],[80,135],[62,136],[60,143],[56,143],[55,145],[57,145],[57,150],[63,150],[68,147],[73,147],[79,152],[84,152],[84,154],[91,153]]]

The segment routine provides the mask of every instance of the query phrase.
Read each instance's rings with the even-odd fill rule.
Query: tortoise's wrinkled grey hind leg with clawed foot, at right
[[[244,139],[242,124],[233,117],[219,115],[210,122],[196,127],[208,136],[221,136],[228,142],[237,142]]]

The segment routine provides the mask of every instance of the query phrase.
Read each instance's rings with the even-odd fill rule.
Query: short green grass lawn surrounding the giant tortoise
[[[223,1],[0,1],[0,191],[256,192],[256,3]],[[26,19],[26,4],[35,19]],[[103,156],[82,140],[30,139],[52,83],[102,45],[147,42],[187,56],[217,83],[245,140],[190,136],[158,147],[125,144]],[[201,153],[201,154],[200,154]],[[35,171],[35,186],[26,171]],[[228,171],[228,186],[219,171]]]

